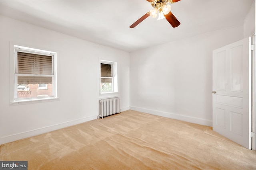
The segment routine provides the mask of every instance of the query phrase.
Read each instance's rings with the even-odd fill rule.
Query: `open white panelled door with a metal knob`
[[[251,37],[213,51],[212,127],[251,149]]]

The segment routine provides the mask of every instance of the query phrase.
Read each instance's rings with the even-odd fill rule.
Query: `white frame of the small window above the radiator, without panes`
[[[111,64],[111,72],[112,72],[112,77],[101,77],[101,63],[103,64]],[[112,93],[118,93],[118,83],[117,83],[117,62],[114,61],[106,61],[106,60],[101,60],[99,62],[99,72],[100,72],[100,79],[99,79],[99,90],[100,94],[112,94]],[[102,92],[101,91],[101,78],[112,78],[112,91],[111,92]]]

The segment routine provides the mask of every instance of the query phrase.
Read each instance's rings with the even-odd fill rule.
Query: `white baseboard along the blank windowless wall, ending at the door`
[[[199,124],[199,125],[205,125],[205,126],[212,127],[212,120],[201,119],[201,118],[186,116],[186,115],[178,115],[178,114],[175,114],[175,113],[168,113],[168,112],[164,112],[164,111],[156,111],[156,110],[145,109],[145,108],[140,108],[140,107],[130,106],[130,109],[135,110],[135,111],[144,112],[144,113],[149,113],[149,114],[152,114],[152,115],[158,115],[158,116],[162,116],[162,117],[168,117],[168,118],[171,118],[171,119],[177,119],[177,120],[181,120],[181,121],[186,121],[186,122],[190,122],[190,123],[196,123],[196,124]]]

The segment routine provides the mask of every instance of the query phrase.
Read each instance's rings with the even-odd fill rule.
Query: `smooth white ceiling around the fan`
[[[146,0],[0,0],[0,15],[132,52],[242,25],[253,2],[181,0],[172,4],[171,11],[181,23],[176,28],[149,16],[131,29],[153,9]]]

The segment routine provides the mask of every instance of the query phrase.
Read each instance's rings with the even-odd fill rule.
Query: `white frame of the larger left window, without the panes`
[[[12,46],[11,46],[12,45]],[[14,45],[10,44],[10,54],[13,54],[13,56],[10,56],[10,75],[12,75],[12,78],[10,80],[10,104],[20,103],[20,102],[32,102],[32,101],[41,101],[41,100],[52,100],[52,99],[58,99],[57,96],[57,53],[53,51],[46,51],[41,49],[34,49],[30,47],[24,47],[20,45]],[[24,53],[32,53],[32,54],[38,54],[38,55],[48,55],[52,56],[52,74],[51,75],[44,75],[44,74],[18,74],[18,64],[17,64],[17,54],[19,52]],[[18,76],[50,76],[52,77],[52,96],[38,96],[35,98],[18,98],[18,87],[16,84],[18,84]],[[44,88],[45,89],[45,88]]]

